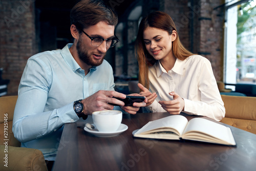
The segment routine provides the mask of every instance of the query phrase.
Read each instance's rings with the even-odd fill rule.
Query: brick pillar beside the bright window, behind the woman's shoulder
[[[198,52],[210,60],[217,80],[223,77],[223,8],[217,8],[222,1],[201,0],[200,46]]]

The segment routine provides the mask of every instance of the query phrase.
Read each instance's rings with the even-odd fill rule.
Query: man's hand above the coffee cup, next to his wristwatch
[[[124,105],[124,102],[112,97],[124,99],[126,95],[116,91],[100,90],[81,101],[84,105],[84,114],[92,115],[95,111],[113,110],[114,106],[108,103],[115,103],[120,106]]]

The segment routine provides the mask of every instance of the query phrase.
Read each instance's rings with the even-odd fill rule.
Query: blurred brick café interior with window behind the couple
[[[116,90],[125,93],[129,82],[138,80],[134,41],[141,18],[152,11],[173,18],[182,44],[210,60],[216,80],[225,88],[255,84],[254,1],[105,0],[119,17],[115,34],[120,42],[105,57],[113,67]],[[30,56],[73,42],[69,14],[77,2],[0,0],[0,96],[17,94]]]

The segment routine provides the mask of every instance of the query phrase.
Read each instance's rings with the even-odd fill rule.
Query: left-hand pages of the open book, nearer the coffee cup
[[[181,137],[181,134],[183,133],[187,122],[187,118],[185,118],[182,115],[167,116],[161,119],[148,122],[139,131],[137,131],[135,135],[150,134],[159,131],[164,132],[164,128],[172,128],[176,130],[176,134],[178,134],[178,136]]]

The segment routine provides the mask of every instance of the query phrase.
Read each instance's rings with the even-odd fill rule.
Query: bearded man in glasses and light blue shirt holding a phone
[[[63,124],[87,118],[94,111],[121,109],[136,114],[142,103],[123,106],[112,97],[114,77],[104,55],[115,46],[117,16],[102,1],[85,0],[71,11],[74,44],[29,58],[20,80],[13,133],[22,147],[37,148],[54,161]],[[118,107],[119,108],[119,107]]]

